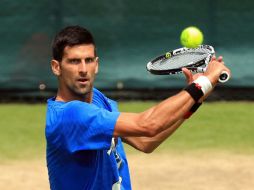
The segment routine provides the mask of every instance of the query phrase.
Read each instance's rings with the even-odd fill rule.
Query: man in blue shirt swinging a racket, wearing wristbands
[[[52,190],[131,189],[122,142],[150,153],[209,95],[222,71],[222,57],[204,74],[183,69],[188,86],[142,113],[119,113],[117,104],[93,88],[98,73],[94,39],[70,26],[53,41],[51,68],[58,78],[48,100],[47,166]]]

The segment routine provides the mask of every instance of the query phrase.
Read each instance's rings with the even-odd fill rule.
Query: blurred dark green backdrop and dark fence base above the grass
[[[1,0],[1,101],[44,102],[56,92],[51,41],[68,25],[95,37],[100,72],[95,86],[117,99],[162,99],[185,86],[182,75],[152,76],[150,59],[181,47],[197,26],[232,71],[210,100],[254,99],[254,2],[248,0]],[[218,90],[219,89],[219,90]]]

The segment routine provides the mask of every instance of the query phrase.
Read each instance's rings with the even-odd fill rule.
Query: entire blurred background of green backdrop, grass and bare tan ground
[[[51,41],[68,25],[94,34],[95,87],[124,112],[142,112],[186,86],[182,74],[154,76],[146,64],[181,47],[184,28],[198,27],[232,78],[155,153],[125,146],[133,189],[253,189],[254,1],[0,0],[0,10],[0,189],[49,189],[46,99],[57,91]]]

